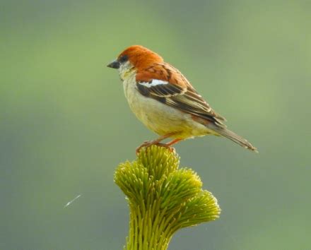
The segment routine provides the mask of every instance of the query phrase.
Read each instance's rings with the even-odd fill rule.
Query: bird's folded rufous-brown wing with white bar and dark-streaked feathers
[[[225,127],[225,118],[211,109],[187,79],[170,64],[155,64],[136,74],[141,95]]]

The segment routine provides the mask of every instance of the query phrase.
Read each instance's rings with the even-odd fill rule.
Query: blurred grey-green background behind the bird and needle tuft
[[[223,211],[169,249],[311,249],[310,13],[303,0],[1,0],[0,249],[122,249],[114,170],[155,138],[106,67],[132,44],[260,152],[213,136],[177,145]]]

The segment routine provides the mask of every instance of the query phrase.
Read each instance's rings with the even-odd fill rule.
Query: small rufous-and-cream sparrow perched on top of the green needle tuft
[[[159,54],[141,45],[124,49],[107,65],[119,71],[129,107],[158,138],[138,148],[170,148],[188,138],[223,136],[243,148],[258,152],[245,138],[227,129],[225,117],[215,112],[182,73]],[[165,139],[172,141],[162,143]]]

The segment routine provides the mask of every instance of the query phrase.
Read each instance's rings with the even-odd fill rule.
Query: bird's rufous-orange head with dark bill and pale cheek
[[[133,45],[125,49],[115,61],[107,66],[118,69],[122,78],[133,70],[146,69],[156,63],[163,62],[163,58],[141,45]]]

